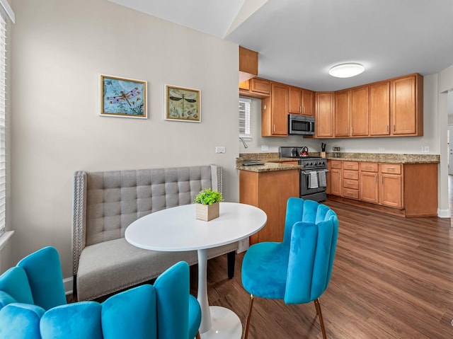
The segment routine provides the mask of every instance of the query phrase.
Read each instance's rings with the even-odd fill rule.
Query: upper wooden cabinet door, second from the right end
[[[390,82],[369,86],[369,135],[390,134]]]

